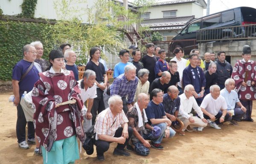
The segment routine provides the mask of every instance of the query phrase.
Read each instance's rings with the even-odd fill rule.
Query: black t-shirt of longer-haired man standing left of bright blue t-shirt
[[[106,74],[104,65],[99,62],[99,65],[96,65],[93,61],[89,61],[86,64],[85,67],[86,70],[93,70],[96,73],[96,81],[101,83],[104,83],[104,77],[103,75]],[[103,90],[101,90],[100,88],[97,88],[97,98],[96,99],[100,99],[101,97],[103,97]]]

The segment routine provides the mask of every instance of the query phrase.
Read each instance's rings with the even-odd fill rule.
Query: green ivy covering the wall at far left
[[[12,79],[12,68],[23,59],[22,48],[40,40],[44,45],[44,58],[48,58],[52,47],[44,42],[44,33],[49,24],[0,20],[0,80]]]

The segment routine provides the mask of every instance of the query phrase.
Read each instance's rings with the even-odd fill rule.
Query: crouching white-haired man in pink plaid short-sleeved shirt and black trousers
[[[128,127],[128,119],[122,110],[122,98],[113,95],[108,99],[108,105],[107,109],[98,114],[94,126],[94,133],[96,133],[95,145],[99,161],[104,161],[104,153],[109,149],[111,142],[118,143],[113,155],[130,156],[130,153],[124,148],[131,138],[133,129]]]

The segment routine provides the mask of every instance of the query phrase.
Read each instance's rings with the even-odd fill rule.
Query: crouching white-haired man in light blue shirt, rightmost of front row
[[[241,121],[241,117],[244,116],[246,108],[242,105],[238,98],[238,94],[235,90],[235,80],[227,79],[225,81],[225,88],[221,90],[221,96],[223,96],[227,103],[227,113],[232,117],[231,124],[238,126],[236,121]],[[241,108],[235,107],[239,106]]]

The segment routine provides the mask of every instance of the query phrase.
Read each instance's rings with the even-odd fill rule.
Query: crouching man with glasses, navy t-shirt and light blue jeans
[[[151,92],[152,100],[149,102],[148,107],[145,109],[148,118],[148,123],[151,126],[158,126],[161,129],[160,137],[151,142],[151,146],[158,150],[163,150],[163,146],[160,144],[163,137],[172,138],[175,136],[175,131],[170,128],[172,124],[166,116],[163,104],[163,91],[156,88]]]

